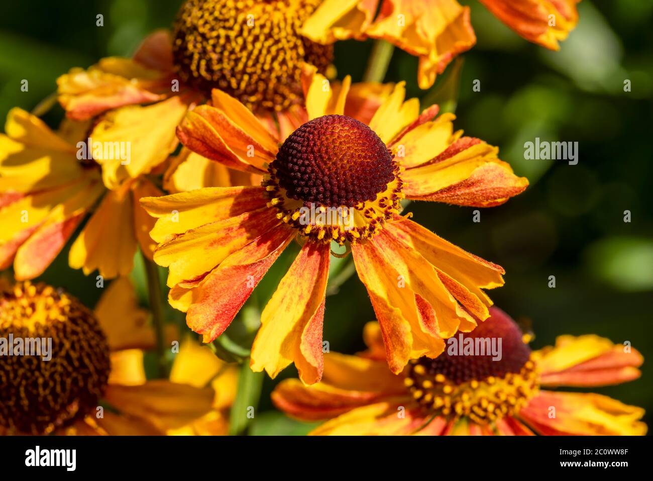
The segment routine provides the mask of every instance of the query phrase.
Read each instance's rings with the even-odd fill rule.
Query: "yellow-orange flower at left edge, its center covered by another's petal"
[[[139,243],[151,258],[153,222],[138,199],[162,192],[146,176],[107,190],[99,164],[78,158],[87,129],[65,121],[54,132],[20,108],[7,116],[0,135],[0,269],[13,263],[18,280],[42,274],[93,210],[72,244],[71,267],[98,269],[105,278],[129,274]]]

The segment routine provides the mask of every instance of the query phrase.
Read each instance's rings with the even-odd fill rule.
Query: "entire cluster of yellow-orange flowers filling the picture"
[[[552,49],[577,22],[575,0],[482,3]],[[168,267],[170,305],[208,343],[293,240],[300,251],[261,313],[250,366],[274,378],[295,364],[299,380],[281,382],[273,401],[297,418],[330,419],[314,433],[645,432],[639,408],[540,389],[632,380],[637,351],[588,335],[531,352],[483,291],[503,285],[502,267],[402,215],[404,199],[495,207],[528,180],[498,148],[454,130],[453,114],[406,100],[402,82],[330,82],[331,44],[352,38],[419,56],[421,88],[475,43],[469,8],[456,0],[187,0],[174,31],[153,33],[133,58],[57,80],[67,114],[57,131],[10,111],[0,268],[13,265],[18,284],[2,287],[0,335],[52,337],[60,362],[0,362],[0,432],[225,433],[232,367],[187,340],[169,379],[146,380],[143,350],[155,335],[124,276],[139,246]],[[126,142],[131,158],[80,159],[86,139]],[[315,207],[345,209],[351,222],[305,222]],[[117,278],[94,313],[29,282],[84,220],[70,266]],[[323,354],[338,244],[378,320],[358,356]],[[445,341],[456,335],[500,338],[502,355],[450,354]],[[89,365],[72,363],[80,356]],[[79,382],[64,382],[71,376]],[[99,399],[116,411],[97,416]]]

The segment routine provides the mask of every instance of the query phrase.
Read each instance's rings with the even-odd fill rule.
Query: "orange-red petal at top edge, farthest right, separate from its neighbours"
[[[524,39],[550,50],[567,38],[578,22],[580,0],[481,0],[490,12]],[[550,25],[550,19],[554,25]]]

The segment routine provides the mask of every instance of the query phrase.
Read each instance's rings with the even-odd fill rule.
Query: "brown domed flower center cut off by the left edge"
[[[44,284],[0,291],[0,427],[48,434],[95,410],[110,372],[93,314]]]

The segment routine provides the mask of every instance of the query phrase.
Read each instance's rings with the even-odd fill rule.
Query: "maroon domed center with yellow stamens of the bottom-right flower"
[[[537,392],[530,354],[517,324],[494,317],[448,339],[436,359],[411,361],[404,381],[429,412],[486,424],[517,413]]]

